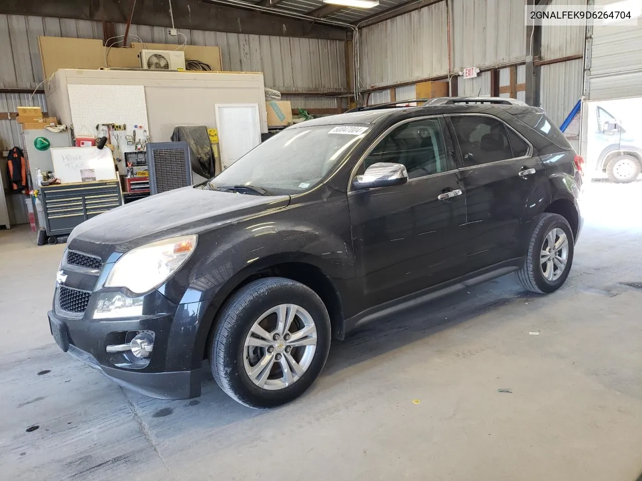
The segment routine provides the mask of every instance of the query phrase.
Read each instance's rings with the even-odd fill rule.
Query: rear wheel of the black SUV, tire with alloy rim
[[[557,242],[562,241],[561,233],[566,235],[566,251],[561,247],[555,250],[555,258],[546,258],[542,262],[542,256],[548,252],[551,246],[551,239],[555,239],[553,248]],[[551,236],[551,237],[549,237]],[[560,246],[562,246],[560,242]],[[526,251],[526,260],[521,270],[517,271],[519,282],[532,292],[539,292],[540,294],[548,294],[555,292],[562,287],[566,281],[571,265],[573,264],[574,252],[574,239],[573,231],[568,221],[559,214],[541,214],[535,220],[535,228],[528,241],[528,249]],[[560,259],[565,260],[564,267],[560,271]],[[549,270],[552,269],[552,270]]]

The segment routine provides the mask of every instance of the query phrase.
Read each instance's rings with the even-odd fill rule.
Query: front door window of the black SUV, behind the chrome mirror
[[[405,165],[408,179],[449,170],[439,119],[422,119],[395,128],[365,158],[363,168],[376,162]]]

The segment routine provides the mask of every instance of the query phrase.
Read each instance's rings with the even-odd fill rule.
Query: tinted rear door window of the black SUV
[[[451,122],[462,151],[464,167],[514,157],[503,122],[482,115],[453,116]]]

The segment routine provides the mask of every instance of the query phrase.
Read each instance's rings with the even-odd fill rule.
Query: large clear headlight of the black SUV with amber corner
[[[105,287],[126,287],[136,294],[151,291],[183,265],[197,239],[197,235],[182,235],[128,251],[112,267]]]

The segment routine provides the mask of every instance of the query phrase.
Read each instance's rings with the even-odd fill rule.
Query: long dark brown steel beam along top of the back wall
[[[129,2],[103,0],[106,22],[125,24]],[[347,32],[334,26],[254,12],[201,0],[172,2],[176,28],[233,33],[256,33],[287,37],[327,38],[345,40]],[[38,15],[67,19],[101,21],[100,0],[0,0],[0,13]],[[137,0],[132,24],[169,28],[168,0]]]

